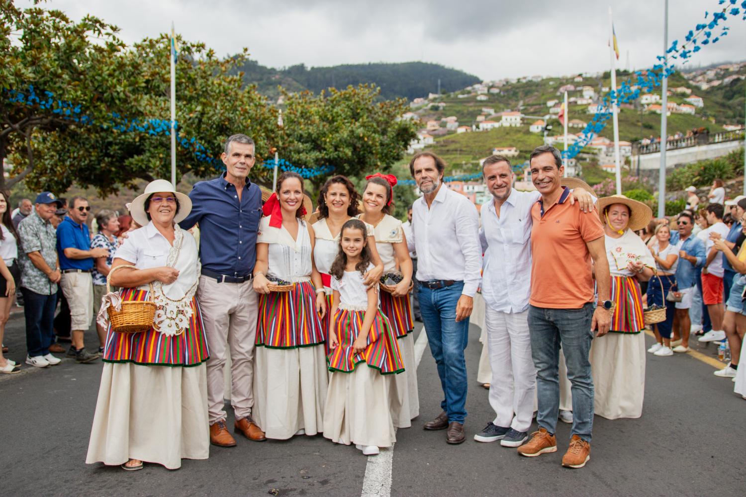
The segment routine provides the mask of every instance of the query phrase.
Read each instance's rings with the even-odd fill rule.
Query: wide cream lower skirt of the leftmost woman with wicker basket
[[[86,463],[207,459],[207,369],[104,363]]]

